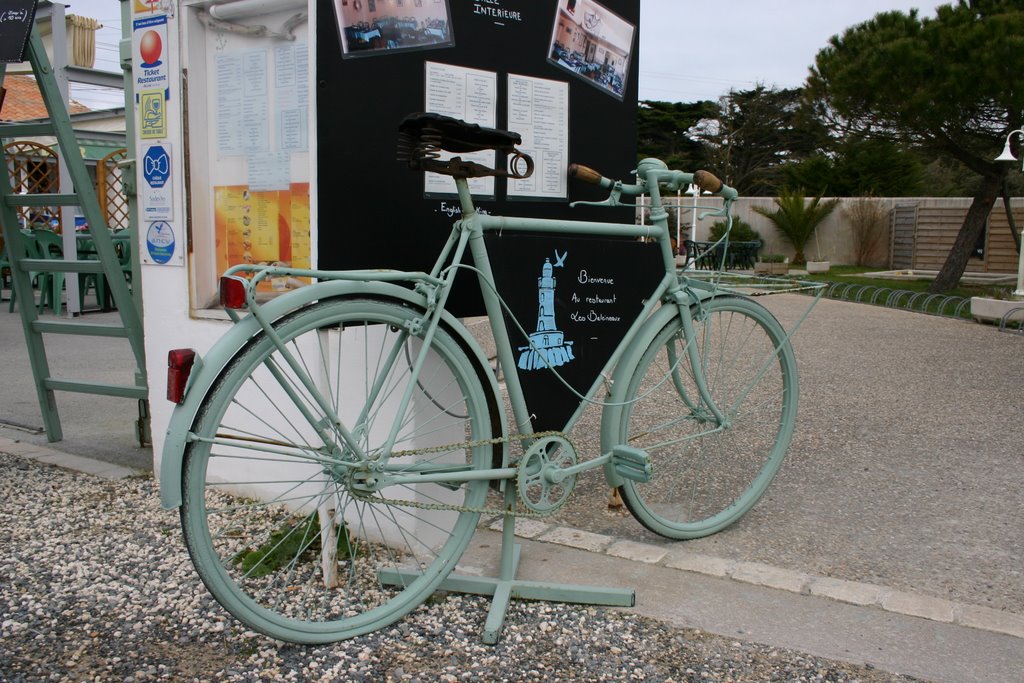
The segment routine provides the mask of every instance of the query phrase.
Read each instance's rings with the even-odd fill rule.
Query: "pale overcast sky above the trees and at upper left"
[[[469,0],[452,0],[468,2]],[[65,0],[68,13],[99,19],[96,68],[118,71],[121,3]],[[640,99],[692,102],[759,84],[798,87],[814,55],[845,29],[892,9],[933,16],[939,0],[640,0]],[[97,106],[118,97],[76,96]]]

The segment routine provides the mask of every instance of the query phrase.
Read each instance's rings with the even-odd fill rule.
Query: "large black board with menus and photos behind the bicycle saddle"
[[[635,0],[321,0],[317,9],[321,267],[432,265],[459,205],[451,178],[395,160],[398,124],[413,112],[462,113],[523,136],[535,177],[474,181],[488,213],[633,221],[629,209],[570,209],[599,195],[568,184],[565,167],[627,177],[636,165]],[[457,312],[475,305],[460,300]]]

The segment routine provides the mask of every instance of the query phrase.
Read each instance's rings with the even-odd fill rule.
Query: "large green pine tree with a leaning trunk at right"
[[[961,0],[883,12],[818,52],[807,101],[837,137],[897,140],[955,160],[980,181],[932,285],[952,287],[984,229],[1009,167],[993,161],[1024,123],[1024,3]]]

